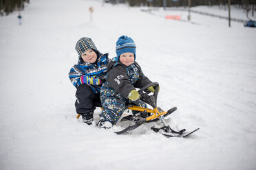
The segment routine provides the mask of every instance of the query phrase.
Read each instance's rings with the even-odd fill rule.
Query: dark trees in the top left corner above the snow
[[[23,10],[25,8],[25,3],[30,3],[30,0],[0,0],[1,1],[1,15],[3,12],[6,15],[10,14],[16,10]]]

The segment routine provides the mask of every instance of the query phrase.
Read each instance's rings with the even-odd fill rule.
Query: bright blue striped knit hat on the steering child
[[[134,40],[128,36],[120,36],[116,42],[116,56],[118,60],[122,53],[134,53],[134,60],[136,58],[136,45]]]

